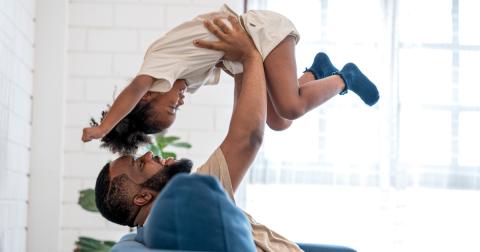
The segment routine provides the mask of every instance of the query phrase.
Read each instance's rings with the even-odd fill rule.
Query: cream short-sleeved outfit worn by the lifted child
[[[204,20],[216,17],[227,18],[229,15],[241,19],[244,29],[251,36],[255,46],[262,55],[268,54],[288,35],[300,35],[293,23],[286,17],[266,10],[251,10],[238,16],[227,5],[219,11],[201,14],[185,22],[156,40],[148,48],[138,75],[149,75],[156,79],[150,91],[167,92],[178,79],[185,79],[187,91],[194,93],[204,84],[217,84],[220,70],[215,68],[223,57],[223,52],[198,48],[193,40],[217,41],[203,25]],[[229,24],[229,22],[226,22]],[[243,72],[239,62],[224,61],[224,66],[233,74]]]

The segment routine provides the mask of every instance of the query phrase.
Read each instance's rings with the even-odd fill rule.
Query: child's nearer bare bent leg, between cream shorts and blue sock
[[[278,114],[294,120],[340,93],[345,83],[338,75],[311,80],[299,86],[295,62],[295,40],[285,38],[264,61],[271,101]],[[306,73],[311,74],[311,73]],[[305,79],[305,74],[300,80]]]

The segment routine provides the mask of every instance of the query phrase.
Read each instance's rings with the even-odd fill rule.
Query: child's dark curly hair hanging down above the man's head
[[[100,122],[103,121],[107,112],[108,109],[102,111]],[[90,126],[98,126],[95,119],[90,119]],[[160,131],[162,131],[162,127],[152,120],[150,103],[139,102],[125,118],[101,139],[102,144],[100,146],[113,153],[134,154],[139,146],[151,143],[147,134]]]

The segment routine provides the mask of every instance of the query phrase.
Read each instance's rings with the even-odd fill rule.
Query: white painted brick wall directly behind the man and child
[[[224,1],[70,0],[65,169],[62,201],[62,251],[72,251],[79,235],[118,240],[128,232],[77,205],[78,191],[94,186],[101,167],[115,158],[98,142],[80,142],[90,116],[98,119],[106,104],[138,71],[147,47],[165,31]],[[225,1],[241,11],[242,1]],[[187,96],[169,134],[193,145],[180,157],[204,162],[225,136],[233,103],[233,81],[204,87]],[[1,116],[1,113],[0,113]]]

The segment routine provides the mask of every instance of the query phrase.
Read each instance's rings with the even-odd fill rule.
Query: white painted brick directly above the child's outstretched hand
[[[89,125],[90,118],[100,120],[101,113],[105,109],[107,109],[105,103],[68,103],[66,126],[84,128]]]

